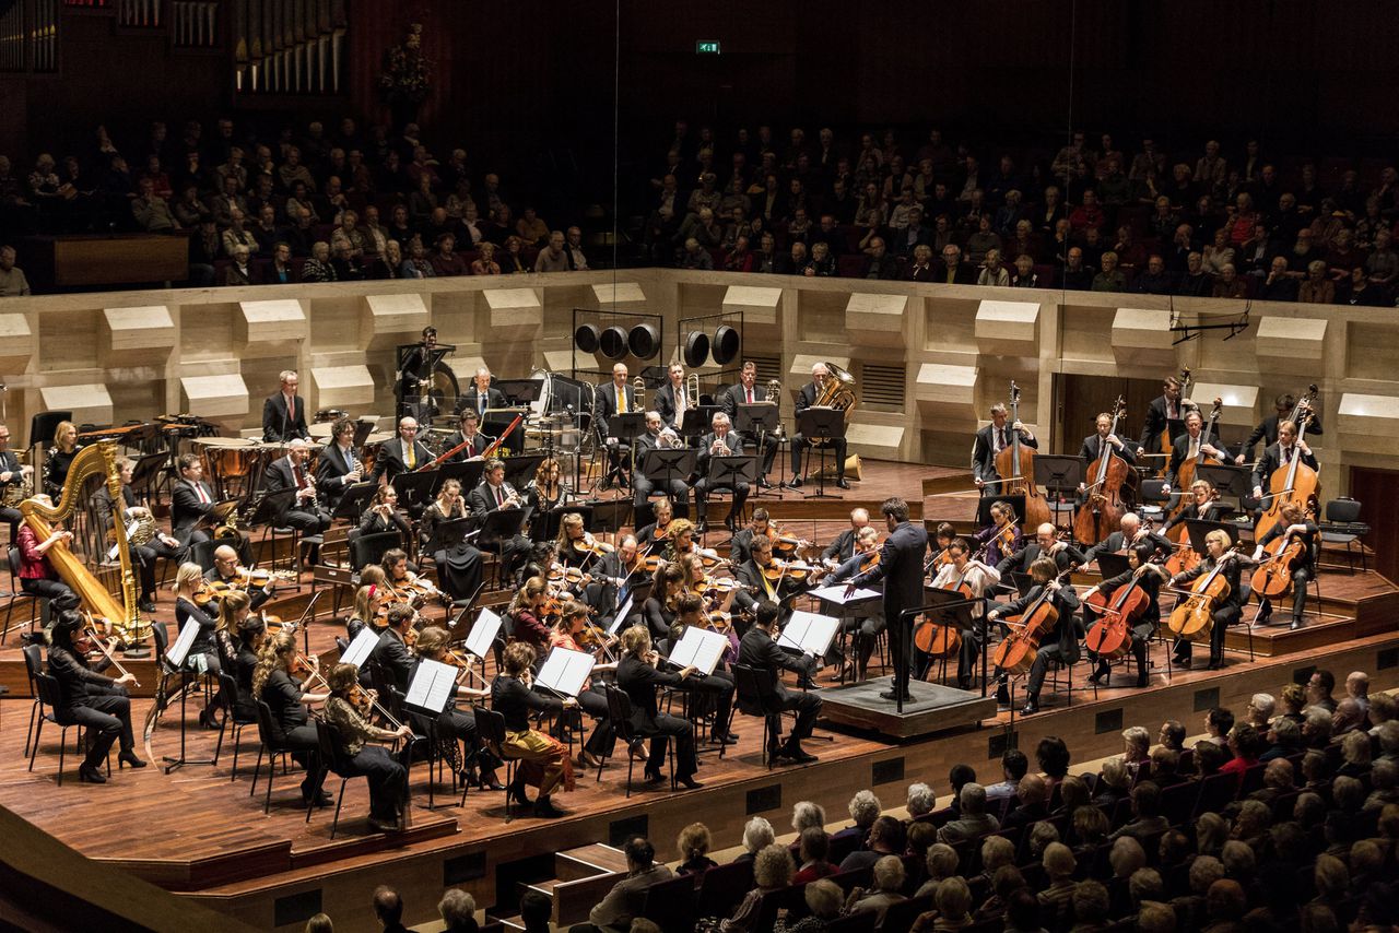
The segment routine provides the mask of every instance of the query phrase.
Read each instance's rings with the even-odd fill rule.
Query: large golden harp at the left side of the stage
[[[69,477],[63,483],[63,495],[57,505],[45,505],[39,499],[25,499],[20,504],[20,513],[24,516],[25,525],[41,541],[53,533],[55,522],[62,522],[78,511],[83,487],[94,476],[106,480],[106,488],[113,502],[122,501],[122,474],[116,469],[116,445],[113,442],[98,441],[78,450],[69,467]],[[112,529],[116,533],[116,553],[122,561],[120,600],[112,596],[106,586],[84,567],[83,558],[74,554],[67,543],[50,547],[45,555],[63,582],[78,594],[84,607],[94,615],[106,618],[122,643],[130,646],[145,641],[150,636],[151,625],[137,611],[136,575],[132,571],[126,525],[118,520],[112,523]]]

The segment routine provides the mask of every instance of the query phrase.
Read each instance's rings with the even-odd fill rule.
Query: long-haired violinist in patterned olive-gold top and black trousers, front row
[[[351,701],[360,690],[360,671],[354,664],[336,664],[326,673],[330,695],[326,698],[326,719],[340,733],[341,751],[350,760],[348,776],[369,779],[369,825],[381,832],[403,831],[403,809],[409,796],[409,769],[388,748],[369,741],[411,739],[407,726],[379,729],[361,715]]]

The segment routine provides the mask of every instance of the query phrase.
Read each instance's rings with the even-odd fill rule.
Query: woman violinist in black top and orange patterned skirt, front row
[[[536,712],[560,713],[578,706],[572,697],[562,699],[547,697],[534,684],[534,649],[515,642],[505,649],[501,673],[491,683],[491,706],[505,718],[505,741],[499,751],[519,761],[515,781],[508,793],[520,806],[532,806],[525,796],[525,785],[539,788],[539,799],[533,802],[534,816],[554,818],[564,816],[554,807],[550,797],[554,790],[574,789],[574,760],[568,747],[537,729],[530,729],[530,716]]]

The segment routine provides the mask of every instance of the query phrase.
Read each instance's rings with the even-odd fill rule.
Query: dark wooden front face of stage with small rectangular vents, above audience
[[[1191,680],[1189,684],[1133,691],[1102,702],[1091,702],[1091,691],[1076,690],[1072,708],[1062,706],[1062,697],[1052,697],[1048,701],[1053,705],[1039,715],[1017,718],[1016,739],[1020,748],[1034,755],[1034,747],[1042,737],[1059,736],[1073,748],[1076,761],[1087,761],[1121,751],[1121,730],[1132,725],[1142,725],[1154,732],[1161,720],[1178,719],[1185,723],[1191,734],[1196,734],[1203,732],[1207,708],[1223,705],[1241,713],[1255,692],[1269,692],[1276,697],[1283,684],[1307,673],[1312,664],[1332,670],[1337,680],[1343,680],[1351,670],[1365,670],[1371,674],[1371,690],[1391,690],[1399,687],[1399,666],[1381,669],[1379,655],[1396,648],[1399,638],[1375,638],[1361,645],[1319,650],[1294,663],[1260,660],[1252,666],[1235,666],[1214,677]],[[1213,694],[1216,690],[1217,697]],[[1119,712],[1121,725],[1116,722]],[[1102,723],[1100,716],[1105,718],[1107,723]],[[1100,732],[1100,725],[1107,727]],[[760,726],[755,720],[741,719],[736,727],[753,730]],[[466,888],[476,898],[477,906],[487,908],[494,902],[495,871],[501,866],[599,839],[609,841],[613,825],[631,818],[645,817],[646,834],[655,842],[658,856],[673,860],[677,834],[695,820],[709,827],[715,846],[720,848],[734,845],[741,838],[743,824],[750,816],[767,817],[779,834],[790,832],[792,804],[799,800],[814,800],[825,807],[828,820],[842,820],[849,797],[865,788],[872,788],[886,806],[894,807],[904,803],[911,782],[926,781],[937,793],[939,806],[946,806],[947,772],[953,764],[971,764],[981,779],[999,781],[999,748],[996,754],[990,754],[990,744],[993,739],[1000,740],[1003,736],[1004,730],[1000,727],[972,729],[839,761],[827,760],[806,768],[779,768],[772,772],[762,768],[755,754],[746,755],[743,761],[751,765],[751,776],[722,788],[680,795],[645,792],[634,795],[630,803],[607,814],[562,822],[544,824],[525,818],[506,827],[502,820],[499,825],[502,835],[478,843],[452,846],[449,841],[439,839],[414,846],[414,852],[404,852],[402,857],[392,860],[365,857],[350,864],[326,866],[320,871],[306,870],[283,878],[267,878],[266,887],[256,891],[248,890],[250,885],[239,885],[236,894],[227,897],[218,892],[189,897],[196,897],[214,909],[263,929],[299,930],[299,923],[273,926],[276,898],[319,888],[322,904],[330,908],[337,904],[360,904],[365,891],[378,884],[390,884],[404,895],[407,905],[404,922],[424,923],[435,918],[432,905],[436,904],[443,887],[443,863],[452,859],[484,853],[484,876],[457,880],[453,885]],[[810,748],[818,755],[830,757],[824,743],[810,743]],[[902,760],[902,776],[874,783],[874,771],[897,769],[898,760]],[[616,782],[623,776],[624,772],[618,774],[613,768],[609,769],[607,781]],[[779,793],[781,800],[769,796],[767,803],[771,806],[750,813],[750,795],[761,799],[772,793]],[[561,797],[561,803],[567,806],[567,796]],[[502,818],[502,807],[497,807],[490,818]],[[337,916],[336,929],[340,927]],[[378,927],[369,919],[347,916],[346,929],[372,933]]]

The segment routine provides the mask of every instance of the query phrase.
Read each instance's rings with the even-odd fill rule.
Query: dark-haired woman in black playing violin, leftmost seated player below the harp
[[[106,783],[102,762],[113,741],[120,740],[122,767],[144,768],[145,761],[136,754],[132,699],[126,690],[136,684],[136,677],[123,674],[113,680],[92,670],[87,662],[91,649],[83,617],[73,611],[59,613],[49,643],[49,674],[59,681],[59,705],[88,734],[87,757],[78,765],[78,781]]]

